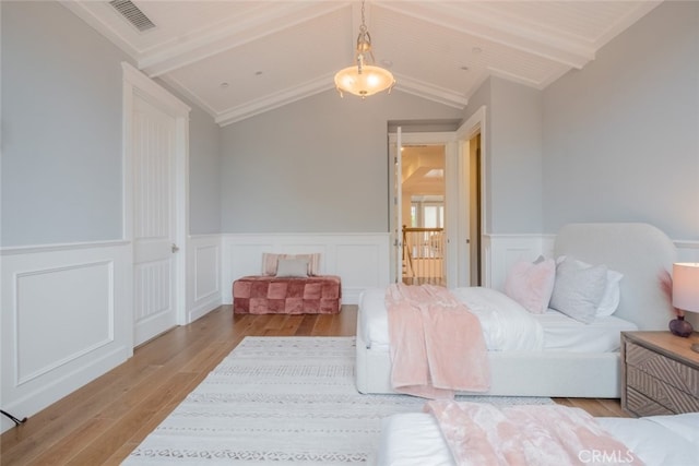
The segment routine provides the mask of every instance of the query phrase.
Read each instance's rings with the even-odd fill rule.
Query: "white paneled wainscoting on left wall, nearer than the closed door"
[[[2,409],[32,416],[133,355],[128,242],[1,254]]]

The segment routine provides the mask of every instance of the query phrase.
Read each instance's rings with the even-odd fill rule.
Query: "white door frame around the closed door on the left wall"
[[[133,154],[131,152],[133,98],[138,95],[158,107],[175,120],[175,240],[179,248],[175,254],[176,276],[175,309],[176,323],[183,325],[187,322],[187,231],[189,231],[189,112],[191,108],[175,97],[168,91],[156,84],[137,68],[128,62],[121,62],[123,91],[122,91],[122,187],[123,187],[123,219],[122,237],[130,244],[131,266],[129,267],[128,283],[131,284],[130,301],[133,301]],[[133,328],[133,315],[131,316]],[[133,338],[133,333],[132,333]],[[133,346],[133,339],[131,342]]]

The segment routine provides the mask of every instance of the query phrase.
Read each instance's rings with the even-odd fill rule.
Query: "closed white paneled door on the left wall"
[[[177,323],[176,120],[134,95],[133,320],[134,345]]]

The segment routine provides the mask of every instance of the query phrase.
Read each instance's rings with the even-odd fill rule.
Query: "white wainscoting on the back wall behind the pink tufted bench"
[[[233,282],[259,275],[262,253],[321,253],[320,272],[342,279],[342,302],[356,304],[365,288],[389,284],[389,234],[224,235],[222,300],[233,302]]]

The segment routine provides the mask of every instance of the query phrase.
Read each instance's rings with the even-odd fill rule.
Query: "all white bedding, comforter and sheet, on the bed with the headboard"
[[[583,324],[558,311],[532,314],[505,294],[489,288],[464,287],[452,290],[473,312],[483,327],[491,351],[565,349],[579,353],[618,351],[620,332],[638,330],[623,319],[597,316]],[[389,322],[384,289],[371,288],[359,297],[360,330],[372,349],[389,347]]]

